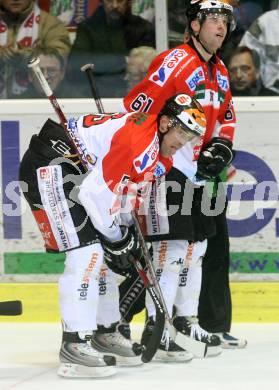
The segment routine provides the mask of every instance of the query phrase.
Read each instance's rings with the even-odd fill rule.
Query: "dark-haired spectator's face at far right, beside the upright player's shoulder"
[[[233,96],[270,96],[274,91],[265,88],[260,75],[260,58],[246,46],[238,47],[228,61]]]

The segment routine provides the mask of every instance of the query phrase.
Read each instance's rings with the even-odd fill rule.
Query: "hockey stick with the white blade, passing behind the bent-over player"
[[[93,67],[94,67],[94,65],[92,65],[92,64],[86,64],[86,65],[84,65],[81,68],[81,70],[82,71],[86,71],[86,73],[87,73],[87,77],[88,77],[88,81],[89,81],[89,84],[90,84],[90,87],[91,87],[91,90],[92,90],[93,98],[95,100],[96,106],[98,107],[99,113],[102,114],[102,113],[104,113],[104,111],[99,109],[99,104],[97,103],[97,101],[100,102],[101,99],[100,99],[100,97],[98,95],[98,91],[96,90],[96,83],[95,83],[95,80],[94,80]],[[195,356],[197,356],[197,357],[205,357],[206,353],[207,353],[207,345],[205,343],[203,343],[202,341],[195,340],[195,339],[193,339],[192,337],[190,337],[188,335],[184,335],[181,332],[177,332],[177,330],[174,328],[174,326],[172,324],[172,318],[168,314],[168,310],[167,310],[167,306],[166,306],[166,303],[165,303],[165,299],[164,299],[163,293],[161,291],[159,283],[157,282],[157,277],[156,277],[156,274],[155,274],[155,271],[154,271],[154,268],[153,268],[153,262],[152,262],[149,250],[147,248],[145,239],[144,239],[143,234],[141,232],[141,228],[140,228],[138,219],[137,219],[137,217],[136,217],[134,212],[132,212],[132,218],[133,218],[134,226],[135,226],[135,228],[137,230],[138,236],[140,237],[141,246],[142,246],[143,253],[144,253],[144,258],[145,258],[145,261],[146,261],[146,264],[147,264],[147,268],[149,270],[149,275],[150,275],[150,279],[151,279],[151,283],[152,283],[152,288],[156,289],[156,293],[157,293],[156,296],[159,298],[160,305],[163,306],[163,308],[164,308],[164,313],[165,313],[165,317],[166,317],[165,319],[167,320],[168,330],[169,330],[169,333],[170,333],[172,339],[181,348],[188,350],[189,352],[193,353]],[[138,271],[138,269],[137,269],[137,271]],[[138,273],[139,273],[139,271],[138,271]],[[151,297],[152,297],[152,295],[151,295]],[[154,300],[153,300],[153,302],[154,302]],[[159,330],[156,329],[156,326],[158,324],[158,329],[159,329],[159,324],[162,322],[162,318],[161,318],[162,317],[162,313],[159,313],[160,314],[160,318],[157,319],[157,307],[156,307],[156,305],[155,305],[155,308],[156,308],[156,323],[155,323],[155,328],[154,328],[154,332],[153,332],[152,336],[154,336],[153,342],[157,343],[159,345],[160,340],[161,340],[161,339],[159,340],[159,337],[162,337],[163,330],[162,330],[162,333],[160,334]],[[158,320],[158,323],[157,323],[157,320]],[[155,333],[157,334],[157,337],[155,336]],[[158,342],[158,340],[159,340],[159,342]]]

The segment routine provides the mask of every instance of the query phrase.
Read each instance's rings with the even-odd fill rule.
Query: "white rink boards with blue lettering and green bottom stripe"
[[[44,261],[43,241],[18,185],[20,159],[48,116],[0,114],[0,269],[5,274],[63,269],[64,255],[47,255]],[[238,113],[236,174],[227,183],[231,273],[279,273],[278,122],[279,113]]]

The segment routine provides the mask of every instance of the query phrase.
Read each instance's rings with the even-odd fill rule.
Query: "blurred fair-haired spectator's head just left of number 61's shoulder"
[[[156,50],[150,46],[140,46],[132,49],[127,57],[127,92],[138,84],[146,75],[150,62],[156,57]]]

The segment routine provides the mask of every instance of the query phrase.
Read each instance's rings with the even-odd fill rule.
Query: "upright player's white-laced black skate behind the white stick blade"
[[[220,338],[201,328],[196,316],[175,317],[173,325],[179,332],[206,343],[206,356],[217,356],[222,352]]]

